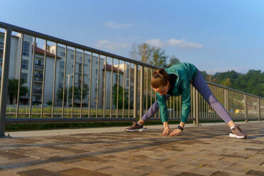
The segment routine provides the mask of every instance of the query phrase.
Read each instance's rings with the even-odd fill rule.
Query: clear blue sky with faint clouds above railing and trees
[[[131,57],[133,44],[209,73],[262,70],[264,1],[1,0],[0,21]]]

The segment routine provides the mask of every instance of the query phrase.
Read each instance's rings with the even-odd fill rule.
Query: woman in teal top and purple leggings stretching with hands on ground
[[[198,90],[202,97],[214,108],[217,114],[230,127],[230,137],[246,138],[246,134],[241,131],[239,126],[233,123],[233,120],[227,113],[226,109],[219,103],[209,89],[207,82],[199,72],[197,67],[189,63],[178,63],[167,69],[157,69],[151,77],[151,86],[157,94],[157,101],[150,106],[150,109],[144,114],[141,120],[126,128],[126,131],[143,131],[143,124],[150,119],[160,109],[160,118],[163,121],[164,130],[163,136],[177,136],[183,131],[187,122],[190,107],[191,107],[191,92],[190,84]],[[167,104],[166,101],[170,96],[182,95],[182,116],[180,125],[170,131],[169,123],[167,122]]]

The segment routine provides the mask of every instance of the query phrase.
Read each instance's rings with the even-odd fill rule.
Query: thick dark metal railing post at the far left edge
[[[11,51],[11,28],[7,28],[4,35],[4,56],[2,64],[1,92],[0,92],[0,137],[4,138],[6,128],[6,98],[9,84],[9,61]]]

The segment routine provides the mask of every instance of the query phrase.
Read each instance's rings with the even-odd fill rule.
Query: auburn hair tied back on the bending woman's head
[[[154,89],[157,89],[159,87],[165,87],[168,81],[169,75],[167,75],[167,72],[163,68],[158,68],[153,73],[150,84]]]

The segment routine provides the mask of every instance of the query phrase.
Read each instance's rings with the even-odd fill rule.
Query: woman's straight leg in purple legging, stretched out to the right
[[[214,108],[217,114],[223,119],[229,126],[233,126],[233,121],[226,109],[219,103],[219,101],[214,97],[209,89],[207,82],[200,72],[198,72],[197,77],[192,80],[192,85],[197,89],[197,91],[202,94],[202,97]]]

